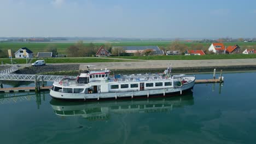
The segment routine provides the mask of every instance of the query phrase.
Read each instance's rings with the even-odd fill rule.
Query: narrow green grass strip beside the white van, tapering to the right
[[[43,58],[42,58],[43,59]],[[32,63],[39,59],[33,59]],[[109,62],[136,62],[134,60],[107,59],[107,58],[44,58],[45,63],[109,63]]]

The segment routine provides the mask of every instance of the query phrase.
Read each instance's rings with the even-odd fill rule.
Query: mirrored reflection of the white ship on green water
[[[110,113],[168,112],[176,107],[193,105],[193,94],[177,97],[129,99],[111,101],[63,101],[52,99],[51,107],[58,116],[82,116],[90,121],[109,119]]]

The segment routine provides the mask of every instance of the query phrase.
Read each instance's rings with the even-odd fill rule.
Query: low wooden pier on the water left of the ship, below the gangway
[[[49,90],[51,86],[40,87],[40,91]],[[29,92],[35,91],[35,87],[10,87],[10,88],[0,88],[0,92]]]

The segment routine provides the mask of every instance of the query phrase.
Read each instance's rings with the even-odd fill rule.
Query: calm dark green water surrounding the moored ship
[[[0,142],[255,143],[256,73],[224,76],[222,86],[196,84],[191,94],[157,99],[83,103],[1,93]]]

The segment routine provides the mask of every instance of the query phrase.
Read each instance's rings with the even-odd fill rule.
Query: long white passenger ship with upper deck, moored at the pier
[[[162,74],[110,75],[110,70],[86,70],[74,79],[55,81],[50,95],[57,99],[100,100],[183,94],[195,85],[195,76]]]

